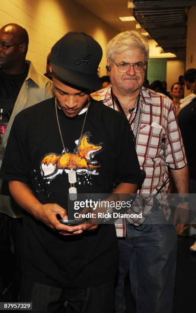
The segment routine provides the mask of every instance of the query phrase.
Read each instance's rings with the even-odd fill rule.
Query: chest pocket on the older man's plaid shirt
[[[137,153],[151,159],[162,157],[163,151],[163,128],[145,125],[140,127]]]

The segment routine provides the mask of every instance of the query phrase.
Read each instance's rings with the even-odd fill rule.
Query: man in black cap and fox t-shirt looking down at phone
[[[55,98],[15,118],[1,177],[23,222],[20,301],[34,312],[113,312],[114,225],[63,225],[67,194],[134,193],[141,183],[127,120],[89,95],[100,88],[102,49],[70,32],[52,48]],[[128,144],[129,142],[129,144]],[[14,152],[13,152],[14,151]]]

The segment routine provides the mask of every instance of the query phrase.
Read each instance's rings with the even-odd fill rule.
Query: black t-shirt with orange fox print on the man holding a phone
[[[69,119],[58,109],[58,115],[67,152],[74,153],[85,114]],[[101,102],[91,101],[83,135],[86,138],[80,155],[85,149],[86,155],[92,150],[96,153],[92,153],[91,158],[90,152],[88,166],[77,170],[78,193],[109,193],[114,182],[140,183],[132,133],[124,116]],[[97,150],[97,146],[101,149]],[[58,203],[66,207],[70,187],[68,175],[59,169],[63,162],[56,163],[57,169],[52,161],[63,157],[62,151],[54,99],[48,99],[16,116],[1,177],[29,184],[42,204]],[[64,237],[28,213],[23,224],[24,275],[34,281],[82,288],[102,284],[114,277],[118,254],[114,225]]]

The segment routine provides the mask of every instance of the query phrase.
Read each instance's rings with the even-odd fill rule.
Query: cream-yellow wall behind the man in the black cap
[[[46,56],[59,38],[68,31],[84,31],[101,44],[101,76],[106,75],[106,45],[117,32],[74,0],[0,0],[0,4],[0,27],[16,23],[27,29],[27,59],[39,72],[45,73]]]

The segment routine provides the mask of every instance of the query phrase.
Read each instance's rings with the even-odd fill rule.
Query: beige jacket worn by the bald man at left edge
[[[26,62],[30,65],[29,72],[21,86],[14,104],[12,115],[2,138],[2,143],[0,145],[0,167],[2,165],[6,144],[15,116],[24,108],[53,97],[52,81],[38,73],[30,61]],[[15,208],[15,205],[12,205],[10,196],[5,195],[5,192],[2,194],[2,187],[4,189],[3,181],[0,180],[0,212],[6,213],[12,217],[21,216],[21,210]]]

